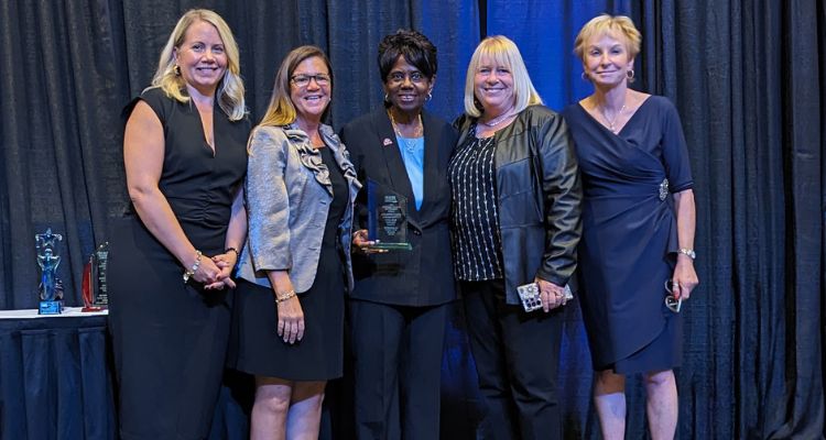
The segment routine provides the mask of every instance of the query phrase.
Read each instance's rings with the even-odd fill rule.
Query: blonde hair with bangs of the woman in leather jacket
[[[525,67],[524,61],[522,61],[522,54],[519,52],[519,47],[510,38],[503,35],[488,36],[482,40],[474,56],[470,58],[470,64],[467,67],[467,77],[465,79],[465,112],[474,118],[481,116],[478,99],[475,92],[475,79],[476,72],[479,69],[482,58],[492,61],[497,66],[503,66],[511,72],[513,76],[513,108],[517,112],[520,112],[528,108],[528,106],[541,105],[542,98],[533,87],[531,77],[528,75],[528,68]]]

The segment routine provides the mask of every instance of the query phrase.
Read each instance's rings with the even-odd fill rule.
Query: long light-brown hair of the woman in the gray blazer
[[[275,74],[275,85],[272,87],[272,97],[270,98],[270,105],[267,107],[267,112],[261,119],[259,125],[287,125],[295,121],[296,112],[295,105],[290,98],[290,77],[293,75],[298,65],[312,57],[319,57],[327,66],[329,73],[329,89],[333,92],[333,67],[330,66],[329,58],[324,54],[324,51],[316,46],[301,46],[296,47],[284,57],[281,62],[281,67]],[[327,119],[329,113],[329,102],[327,108],[324,109],[322,114],[322,121]]]

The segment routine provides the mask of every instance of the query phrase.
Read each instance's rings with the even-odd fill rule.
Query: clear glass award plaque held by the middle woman
[[[367,180],[367,237],[372,248],[410,251],[407,198],[372,179]]]

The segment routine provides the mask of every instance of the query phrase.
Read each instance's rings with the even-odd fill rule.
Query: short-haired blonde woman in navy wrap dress
[[[698,283],[685,139],[667,99],[628,88],[639,47],[627,16],[589,21],[575,52],[594,94],[563,112],[583,175],[580,297],[606,439],[624,436],[624,381],[633,373],[643,374],[652,438],[674,437],[678,306]]]

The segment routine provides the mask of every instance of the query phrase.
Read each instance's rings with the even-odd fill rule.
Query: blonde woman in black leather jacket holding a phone
[[[576,267],[582,190],[562,117],[542,106],[515,44],[485,38],[468,66],[448,175],[453,252],[486,438],[562,438],[559,306]],[[542,310],[517,286],[536,283]]]

